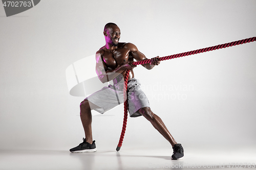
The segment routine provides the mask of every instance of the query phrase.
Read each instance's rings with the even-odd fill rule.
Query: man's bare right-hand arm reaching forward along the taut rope
[[[129,48],[131,50],[131,55],[133,56],[133,58],[137,61],[141,61],[141,60],[146,60],[146,56],[144,54],[142,54],[141,52],[139,52],[138,48],[132,44],[132,43],[127,43],[125,45],[126,48]],[[147,63],[147,64],[141,64],[143,67],[145,67],[146,69],[152,69],[155,65],[160,64],[160,60],[159,60],[159,56],[151,58],[151,62]]]

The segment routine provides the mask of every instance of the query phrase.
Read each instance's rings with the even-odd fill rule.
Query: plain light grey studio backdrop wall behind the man
[[[65,71],[104,45],[105,23],[117,23],[120,42],[152,58],[256,36],[255,20],[254,0],[45,0],[10,17],[0,7],[0,149],[69,150],[81,142],[84,97],[70,95]],[[255,53],[251,42],[134,71],[153,112],[186,147],[254,144]],[[97,147],[115,150],[123,105],[93,114]],[[123,147],[155,143],[169,146],[144,117],[128,119]]]

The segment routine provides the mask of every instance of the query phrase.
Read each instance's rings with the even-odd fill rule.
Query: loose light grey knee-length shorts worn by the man
[[[127,83],[128,111],[131,117],[141,116],[139,109],[150,107],[145,93],[140,88],[139,80],[133,78]],[[126,98],[126,96],[125,96]],[[104,112],[120,105],[124,101],[123,81],[103,87],[86,98],[89,102],[100,108],[94,109],[103,114]]]

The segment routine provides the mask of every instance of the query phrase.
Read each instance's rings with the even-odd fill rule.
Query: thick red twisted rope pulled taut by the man
[[[229,42],[229,43],[225,43],[225,44],[219,44],[219,45],[210,46],[210,47],[207,47],[207,48],[201,48],[199,50],[194,50],[194,51],[190,51],[190,52],[185,52],[185,53],[179,53],[179,54],[175,54],[175,55],[160,57],[159,60],[163,61],[163,60],[169,60],[169,59],[179,58],[179,57],[183,57],[183,56],[189,56],[189,55],[194,55],[194,54],[219,50],[221,48],[226,48],[226,47],[234,46],[234,45],[240,45],[240,44],[244,44],[244,43],[247,43],[247,42],[253,42],[255,40],[256,40],[256,37],[246,38],[246,39],[233,41],[233,42]],[[150,62],[151,62],[151,59],[147,59],[147,60],[141,60],[141,61],[133,62],[132,64],[133,65],[139,65],[139,64],[147,64],[147,63],[150,63]],[[130,73],[130,70],[126,70],[126,74],[125,74],[125,78],[124,78],[124,92],[125,93],[126,93],[126,90],[127,90],[127,81],[128,81],[129,73]],[[125,99],[126,99],[126,95],[124,95],[124,100]],[[125,129],[126,129],[126,123],[127,123],[127,100],[124,102],[123,128],[122,128],[122,132],[121,132],[121,135],[120,135],[120,139],[119,139],[119,143],[117,145],[116,151],[119,151],[121,146],[122,146],[123,137],[124,137],[124,133],[125,133]]]

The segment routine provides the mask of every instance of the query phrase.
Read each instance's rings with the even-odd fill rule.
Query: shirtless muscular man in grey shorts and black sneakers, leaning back
[[[181,159],[183,148],[177,143],[165,127],[160,117],[151,111],[148,100],[140,89],[140,83],[134,78],[132,65],[137,61],[147,59],[132,43],[119,42],[120,29],[115,23],[107,23],[104,27],[106,44],[96,53],[96,72],[102,83],[113,80],[114,85],[103,87],[84,99],[80,104],[80,117],[86,138],[77,147],[70,149],[72,153],[95,152],[95,140],[92,138],[92,114],[91,110],[104,113],[113,107],[123,103],[123,77],[126,70],[130,70],[127,84],[127,100],[131,117],[143,115],[165,137],[173,147],[172,159]],[[152,69],[159,65],[159,57],[151,59],[150,64],[142,64],[146,69]]]

